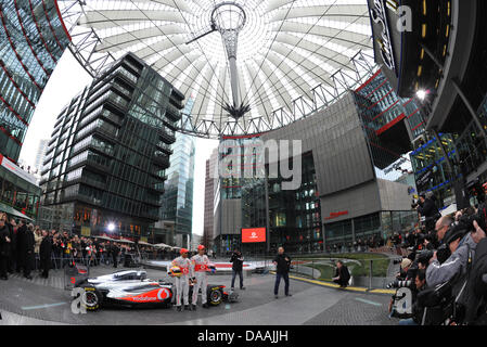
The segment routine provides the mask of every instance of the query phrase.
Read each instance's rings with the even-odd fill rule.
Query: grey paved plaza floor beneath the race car
[[[121,270],[118,268],[117,270]],[[113,272],[112,267],[91,268],[91,277]],[[151,279],[166,278],[162,270],[148,269]],[[13,274],[0,281],[0,324],[215,324],[215,325],[389,325],[396,319],[387,317],[389,295],[343,291],[291,279],[292,297],[273,296],[274,275],[257,274],[244,279],[245,291],[238,291],[238,303],[177,312],[174,308],[101,308],[95,312],[74,314],[71,292],[64,290],[63,272],[52,270],[44,280],[34,273],[34,280]],[[213,275],[209,282],[230,286],[230,275]]]

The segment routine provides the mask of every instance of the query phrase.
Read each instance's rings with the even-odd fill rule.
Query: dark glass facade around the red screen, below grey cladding
[[[268,179],[271,253],[284,246],[291,253],[323,250],[320,198],[310,152],[302,157],[302,184],[282,190],[282,178]],[[242,187],[242,228],[266,227],[265,179],[247,179]],[[261,254],[265,244],[245,244],[246,253]]]

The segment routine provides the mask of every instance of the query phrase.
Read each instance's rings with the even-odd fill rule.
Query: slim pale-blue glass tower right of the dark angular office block
[[[188,247],[193,222],[194,141],[177,133],[171,146],[170,166],[162,196],[161,219],[175,222],[175,239],[170,244]]]

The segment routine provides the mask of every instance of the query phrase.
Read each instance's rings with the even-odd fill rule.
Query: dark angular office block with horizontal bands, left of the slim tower
[[[148,237],[159,219],[184,97],[134,54],[104,70],[57,116],[43,204],[53,227]]]

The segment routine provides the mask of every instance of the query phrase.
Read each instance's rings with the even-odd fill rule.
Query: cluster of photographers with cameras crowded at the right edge
[[[397,249],[407,250],[389,284],[398,288],[390,314],[401,318],[402,325],[487,323],[486,205],[480,201],[441,216],[434,197],[421,195],[413,207],[419,227],[390,239]],[[402,288],[410,291],[410,303],[405,304]]]

